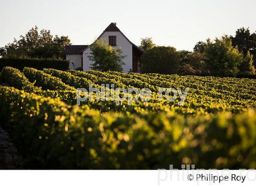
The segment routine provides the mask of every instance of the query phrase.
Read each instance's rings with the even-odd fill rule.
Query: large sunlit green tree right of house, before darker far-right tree
[[[213,76],[236,76],[243,62],[243,54],[232,46],[228,36],[216,38],[214,42],[208,40],[205,56],[206,68]]]

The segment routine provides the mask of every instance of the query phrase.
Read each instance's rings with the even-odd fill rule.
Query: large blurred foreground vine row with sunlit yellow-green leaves
[[[0,123],[32,169],[256,168],[256,115],[105,113],[0,87]]]

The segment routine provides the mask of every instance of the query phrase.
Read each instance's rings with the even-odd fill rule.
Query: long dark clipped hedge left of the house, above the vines
[[[0,70],[6,66],[23,70],[24,67],[36,68],[53,68],[59,70],[68,70],[69,61],[67,60],[48,60],[48,59],[29,59],[29,58],[0,58]]]

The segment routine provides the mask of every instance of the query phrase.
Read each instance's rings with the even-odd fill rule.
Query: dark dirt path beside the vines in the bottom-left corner
[[[22,159],[8,133],[0,127],[0,169],[22,169]]]

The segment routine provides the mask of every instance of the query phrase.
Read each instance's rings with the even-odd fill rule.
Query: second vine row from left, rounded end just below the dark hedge
[[[53,77],[41,70],[25,67],[23,73],[30,82],[35,82],[36,86],[42,87],[44,90],[75,90],[74,87],[63,83],[60,78]]]

